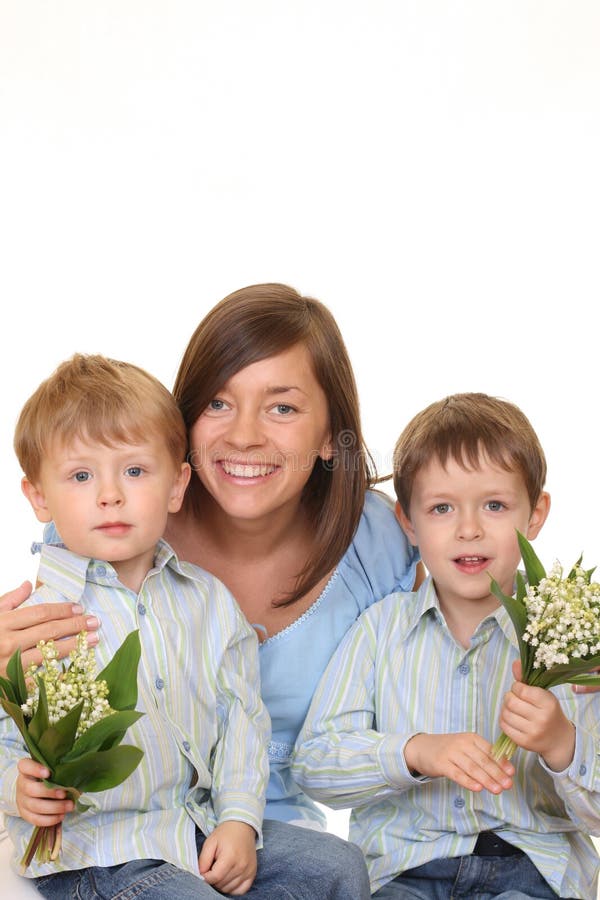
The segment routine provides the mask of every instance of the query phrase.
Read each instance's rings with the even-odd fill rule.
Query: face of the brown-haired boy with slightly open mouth
[[[477,469],[448,459],[432,460],[415,478],[410,518],[399,513],[410,541],[417,545],[435,582],[442,605],[498,606],[490,593],[490,575],[513,593],[520,561],[518,529],[533,539],[550,508],[542,493],[533,511],[523,476],[508,472],[486,457]]]

